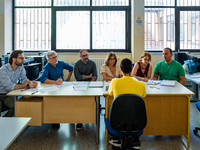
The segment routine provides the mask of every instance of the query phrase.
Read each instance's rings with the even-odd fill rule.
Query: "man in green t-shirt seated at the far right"
[[[158,62],[154,69],[153,79],[158,80],[176,80],[182,85],[185,84],[185,71],[182,65],[172,60],[172,50],[171,48],[164,48],[163,59]]]

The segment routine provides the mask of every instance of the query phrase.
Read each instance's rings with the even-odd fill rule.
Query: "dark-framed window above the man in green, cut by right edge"
[[[145,50],[200,52],[200,0],[145,0]]]

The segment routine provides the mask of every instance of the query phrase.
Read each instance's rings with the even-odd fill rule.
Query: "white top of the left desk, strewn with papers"
[[[103,81],[102,81],[103,82]],[[60,86],[56,91],[41,94],[40,92],[31,95],[33,91],[14,90],[9,92],[8,96],[103,96],[103,88],[89,88],[86,91],[74,91],[73,86],[76,82],[70,82],[71,85]],[[52,87],[52,84],[42,84],[38,82],[38,88]]]

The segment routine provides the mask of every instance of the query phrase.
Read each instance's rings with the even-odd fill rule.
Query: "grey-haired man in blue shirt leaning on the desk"
[[[48,51],[46,54],[48,63],[45,65],[42,76],[40,78],[41,83],[47,84],[62,84],[63,81],[69,81],[74,70],[72,65],[58,60],[57,53],[55,51]],[[63,69],[69,71],[68,77],[64,79]]]

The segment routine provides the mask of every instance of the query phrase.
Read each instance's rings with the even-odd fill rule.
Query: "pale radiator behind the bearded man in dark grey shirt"
[[[93,60],[96,63],[97,66],[97,81],[103,81],[103,76],[100,74],[101,72],[101,66],[104,64],[105,58],[89,58],[91,60]],[[75,62],[72,62],[71,65],[74,66]],[[74,77],[74,73],[71,76],[70,81],[76,81],[75,77]]]

